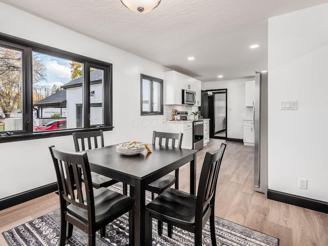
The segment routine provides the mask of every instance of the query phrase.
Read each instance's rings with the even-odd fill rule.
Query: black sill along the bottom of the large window
[[[10,135],[10,136],[2,136],[0,137],[0,144],[2,142],[16,142],[16,141],[25,141],[25,140],[32,140],[38,138],[48,138],[48,137],[60,137],[60,136],[68,136],[72,135],[73,132],[88,132],[88,131],[112,131],[114,127],[95,127],[95,128],[88,128],[88,129],[69,129],[69,130],[61,130],[61,131],[51,131],[51,132],[37,132],[33,134],[17,134],[17,135]]]

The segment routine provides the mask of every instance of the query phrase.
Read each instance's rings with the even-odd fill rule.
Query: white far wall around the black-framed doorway
[[[201,84],[202,90],[228,89],[228,138],[243,138],[243,120],[247,118],[247,108],[245,107],[245,81],[248,80],[254,80],[254,78],[219,80],[202,82]]]

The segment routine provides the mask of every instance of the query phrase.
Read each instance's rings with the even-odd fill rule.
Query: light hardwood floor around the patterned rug
[[[211,139],[197,153],[197,178],[207,151],[223,140]],[[280,246],[328,245],[328,214],[269,200],[253,189],[254,147],[227,142],[219,173],[215,214],[280,239]],[[189,165],[180,169],[180,189],[189,191]],[[198,186],[198,183],[197,183]],[[0,232],[59,208],[54,193],[0,211]],[[7,245],[0,236],[0,245]]]

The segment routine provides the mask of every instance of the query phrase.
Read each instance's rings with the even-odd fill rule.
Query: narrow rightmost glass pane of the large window
[[[90,125],[104,124],[103,117],[104,70],[90,68]]]

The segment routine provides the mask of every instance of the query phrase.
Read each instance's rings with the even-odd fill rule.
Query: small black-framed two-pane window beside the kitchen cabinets
[[[163,80],[141,74],[141,115],[163,114]]]

